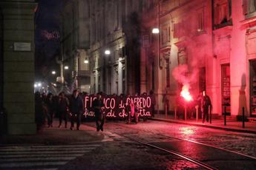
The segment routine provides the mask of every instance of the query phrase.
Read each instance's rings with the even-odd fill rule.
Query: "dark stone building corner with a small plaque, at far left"
[[[1,134],[35,134],[34,9],[36,2],[0,1]]]

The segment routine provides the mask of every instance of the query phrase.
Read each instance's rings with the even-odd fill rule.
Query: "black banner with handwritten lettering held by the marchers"
[[[85,118],[93,118],[93,101],[96,99],[95,95],[87,95],[85,96]],[[127,112],[125,112],[125,108],[127,107],[129,101],[134,101],[138,106],[138,115],[139,117],[149,117],[151,116],[151,97],[148,95],[139,96],[139,97],[130,97],[130,98],[122,98],[120,96],[105,96],[102,98],[105,109],[103,113],[106,118],[113,119],[122,119],[127,116]]]

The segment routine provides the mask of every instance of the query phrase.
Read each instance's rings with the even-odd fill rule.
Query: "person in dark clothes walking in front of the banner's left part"
[[[102,95],[100,93],[97,94],[97,98],[93,101],[93,111],[95,115],[95,122],[96,122],[96,130],[99,132],[99,129],[103,131],[104,125],[104,115],[102,110],[104,109],[104,103],[102,101]],[[100,123],[99,123],[100,121]]]

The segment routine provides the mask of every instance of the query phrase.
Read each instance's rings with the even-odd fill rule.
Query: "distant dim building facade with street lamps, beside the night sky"
[[[90,92],[89,0],[66,1],[61,18],[60,80],[71,89]]]

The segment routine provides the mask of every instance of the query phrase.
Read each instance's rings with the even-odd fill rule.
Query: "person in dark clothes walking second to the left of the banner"
[[[65,128],[67,128],[68,106],[69,106],[68,98],[65,97],[64,92],[60,92],[59,99],[57,102],[57,112],[58,112],[57,115],[59,116],[59,128],[62,127],[62,120],[65,120]]]

